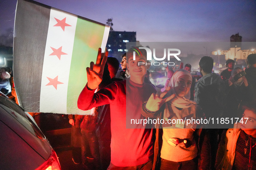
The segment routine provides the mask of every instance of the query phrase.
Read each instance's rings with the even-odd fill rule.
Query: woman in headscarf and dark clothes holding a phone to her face
[[[229,82],[229,88],[227,92],[227,105],[225,107],[224,117],[241,117],[238,115],[239,105],[242,102],[246,102],[247,97],[250,95],[250,90],[248,88],[248,82],[245,76],[233,82],[233,77],[239,72],[243,71],[241,68],[237,67],[232,70],[231,77],[227,82]]]

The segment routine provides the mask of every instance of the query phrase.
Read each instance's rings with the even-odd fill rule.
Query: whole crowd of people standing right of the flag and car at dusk
[[[74,144],[75,164],[102,170],[256,169],[256,54],[247,57],[245,76],[231,60],[220,75],[212,72],[209,56],[199,61],[202,78],[196,83],[190,64],[167,70],[169,80],[160,91],[147,77],[150,64],[138,64],[150,62],[146,50],[132,47],[123,54],[121,72],[118,60],[107,55],[99,48],[78,98],[78,108],[91,115],[70,115],[72,135],[81,139],[80,151]],[[240,119],[227,123],[229,129],[216,122],[167,123],[192,118]]]

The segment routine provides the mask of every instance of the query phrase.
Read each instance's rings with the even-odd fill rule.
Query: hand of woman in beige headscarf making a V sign
[[[146,108],[147,110],[150,110],[152,112],[156,112],[157,110],[160,109],[160,107],[167,101],[171,100],[172,98],[175,97],[175,94],[172,94],[171,96],[167,98],[163,98],[165,94],[171,89],[171,87],[167,87],[162,94],[160,94],[160,97],[156,93],[152,93],[151,96],[149,97],[149,100],[147,101]]]

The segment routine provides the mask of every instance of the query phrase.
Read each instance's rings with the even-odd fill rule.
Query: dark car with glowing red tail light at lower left
[[[0,167],[61,170],[58,157],[35,120],[0,92]]]

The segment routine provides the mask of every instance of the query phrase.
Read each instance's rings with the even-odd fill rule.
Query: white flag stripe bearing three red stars
[[[71,26],[58,26],[56,19],[62,21],[64,25]],[[40,112],[43,110],[46,113],[67,113],[67,93],[63,91],[68,91],[76,24],[77,16],[51,9],[42,70]],[[55,49],[59,49],[59,52],[61,49],[62,55],[52,54]],[[50,80],[47,77],[63,84],[49,85]]]

